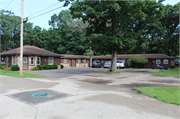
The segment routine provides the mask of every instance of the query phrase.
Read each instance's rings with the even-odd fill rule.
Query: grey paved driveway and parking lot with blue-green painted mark
[[[14,88],[21,90],[1,94],[0,118],[179,119],[180,106],[162,103],[132,90],[134,86],[179,86],[178,77],[156,76],[151,72],[157,70],[152,69],[98,73],[104,71],[107,69],[37,71],[33,73],[49,72],[48,76],[52,77],[3,81],[1,89],[6,84],[9,87],[16,85]],[[64,77],[61,76],[63,72]],[[19,82],[15,83],[16,80]]]

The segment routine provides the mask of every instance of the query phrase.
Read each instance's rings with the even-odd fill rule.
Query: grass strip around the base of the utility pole
[[[23,75],[21,76],[19,74],[19,71],[8,71],[8,72],[6,72],[5,70],[0,70],[0,75],[20,77],[20,78],[40,78],[40,77],[45,77],[45,76],[42,76],[42,75],[30,74],[30,73],[25,73],[25,72],[23,72]]]

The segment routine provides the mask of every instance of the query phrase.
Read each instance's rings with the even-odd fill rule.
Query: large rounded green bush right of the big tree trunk
[[[131,57],[127,61],[131,64],[132,68],[143,68],[144,64],[148,62],[148,59],[140,56]]]

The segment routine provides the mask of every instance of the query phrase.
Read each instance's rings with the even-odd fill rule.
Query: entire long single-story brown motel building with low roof
[[[8,67],[12,65],[20,65],[20,47],[6,52],[0,53],[1,64],[6,63],[6,57],[8,56]],[[158,69],[159,66],[163,68],[171,68],[175,65],[175,59],[165,54],[118,54],[117,60],[123,60],[125,62],[125,68],[131,67],[127,63],[127,60],[134,56],[141,56],[148,59],[148,63],[144,68]],[[111,61],[111,55],[105,56],[92,56],[92,60],[100,60],[103,67],[104,61]],[[89,67],[90,57],[84,55],[66,55],[56,54],[35,46],[23,46],[23,69],[30,70],[37,65],[57,65],[60,69],[60,65],[64,67]]]

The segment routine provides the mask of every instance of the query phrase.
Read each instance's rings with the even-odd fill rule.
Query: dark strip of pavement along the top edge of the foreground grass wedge
[[[120,84],[120,85],[116,85],[118,87],[122,87],[122,88],[133,88],[133,87],[178,87],[178,85],[165,85],[165,84],[151,84],[151,83],[131,83],[131,84]]]

